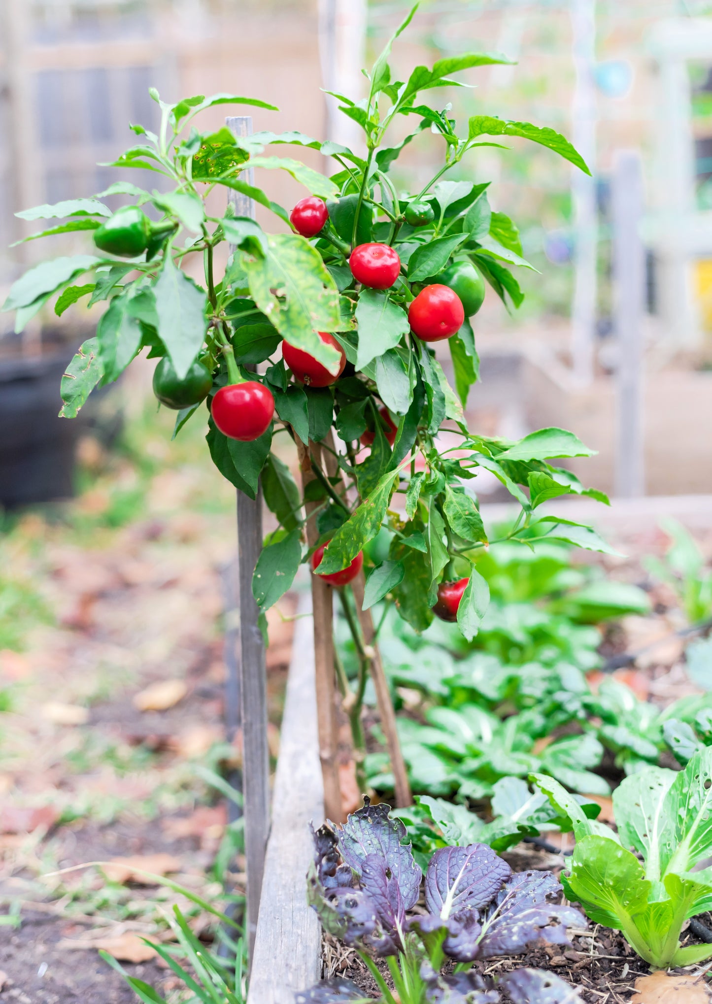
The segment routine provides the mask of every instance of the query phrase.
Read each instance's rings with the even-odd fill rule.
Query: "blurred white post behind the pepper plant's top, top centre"
[[[319,58],[325,90],[350,97],[364,96],[362,67],[366,62],[367,0],[318,0]],[[354,153],[363,148],[362,131],[357,122],[339,113],[338,101],[326,98],[326,139],[348,147]]]

